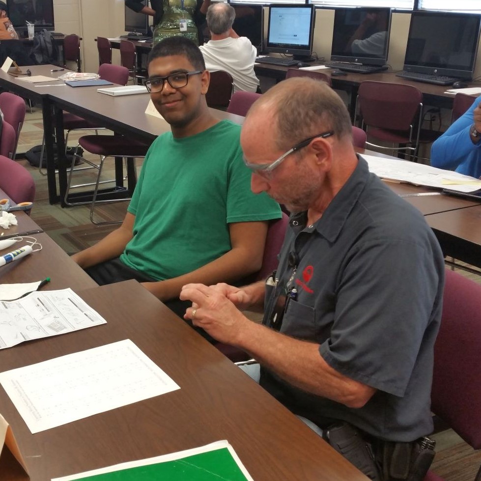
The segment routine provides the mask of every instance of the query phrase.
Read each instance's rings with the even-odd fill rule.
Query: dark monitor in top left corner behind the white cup
[[[54,0],[7,0],[7,15],[19,36],[27,36],[27,22],[34,30],[55,30]]]

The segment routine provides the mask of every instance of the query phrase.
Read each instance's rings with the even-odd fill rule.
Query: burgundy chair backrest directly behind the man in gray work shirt
[[[481,448],[480,353],[481,285],[447,270],[431,410],[474,449]]]

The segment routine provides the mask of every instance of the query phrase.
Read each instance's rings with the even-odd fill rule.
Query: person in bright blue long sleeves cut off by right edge
[[[431,165],[481,177],[481,97],[431,147]]]

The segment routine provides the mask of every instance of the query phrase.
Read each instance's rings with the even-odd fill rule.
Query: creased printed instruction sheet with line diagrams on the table
[[[0,301],[0,349],[106,322],[72,289],[35,291],[15,301]]]

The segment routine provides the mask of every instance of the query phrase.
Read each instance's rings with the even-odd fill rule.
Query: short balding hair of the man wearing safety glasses
[[[291,78],[270,88],[248,115],[267,106],[277,130],[276,145],[287,149],[323,131],[352,141],[351,118],[340,96],[327,84],[309,78]]]

